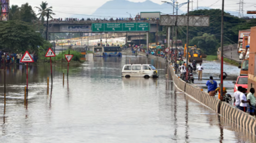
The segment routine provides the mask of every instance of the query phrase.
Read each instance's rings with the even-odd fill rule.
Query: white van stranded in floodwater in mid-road
[[[147,64],[129,64],[124,65],[122,69],[122,77],[158,77],[157,69]]]

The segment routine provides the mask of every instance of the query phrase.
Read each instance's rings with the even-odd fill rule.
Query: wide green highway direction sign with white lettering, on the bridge
[[[93,23],[92,32],[129,32],[129,31],[150,31],[148,23]]]

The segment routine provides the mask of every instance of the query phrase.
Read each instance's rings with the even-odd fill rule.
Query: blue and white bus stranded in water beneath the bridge
[[[93,55],[96,57],[121,57],[122,56],[122,49],[117,47],[110,47],[110,46],[96,46],[93,47]]]

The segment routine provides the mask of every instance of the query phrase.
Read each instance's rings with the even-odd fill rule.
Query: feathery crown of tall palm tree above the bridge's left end
[[[48,10],[49,10],[49,18],[53,18],[51,15],[55,15],[55,13],[53,13],[53,10],[51,9],[53,7],[47,8],[47,5],[48,5],[47,2],[42,1],[42,3],[40,4],[40,8],[35,7],[35,8],[38,8],[39,13],[37,14],[37,16],[39,16],[39,19],[41,19],[42,22],[45,21],[45,17],[47,17]]]

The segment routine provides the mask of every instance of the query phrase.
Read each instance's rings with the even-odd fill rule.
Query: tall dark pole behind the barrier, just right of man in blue
[[[221,10],[221,64],[220,64],[220,96],[223,98],[223,23],[224,23],[224,0],[222,0],[222,10]]]

